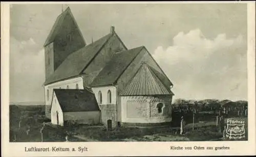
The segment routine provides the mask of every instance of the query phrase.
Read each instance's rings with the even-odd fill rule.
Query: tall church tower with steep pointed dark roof
[[[84,46],[86,41],[68,7],[57,17],[44,44],[46,80],[69,54]]]

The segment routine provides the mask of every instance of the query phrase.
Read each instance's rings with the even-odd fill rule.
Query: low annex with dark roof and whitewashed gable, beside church
[[[100,109],[94,94],[87,89],[54,89],[51,122],[60,126],[67,122],[100,124]]]

